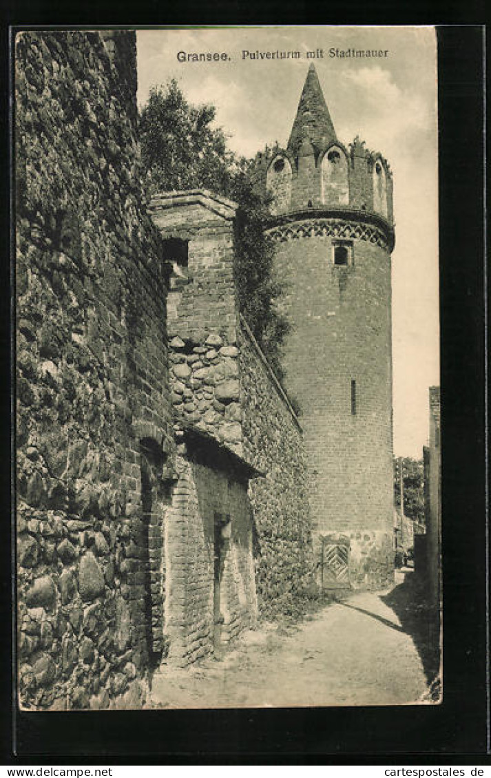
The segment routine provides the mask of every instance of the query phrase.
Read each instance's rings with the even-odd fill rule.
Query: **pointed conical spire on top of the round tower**
[[[321,149],[337,140],[328,106],[314,64],[310,65],[303,85],[300,103],[289,136],[288,149],[296,154],[303,140],[308,138],[314,149]]]

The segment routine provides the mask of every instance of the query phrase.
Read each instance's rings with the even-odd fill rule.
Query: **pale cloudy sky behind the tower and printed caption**
[[[236,27],[139,30],[139,104],[175,78],[191,103],[212,103],[233,151],[286,145],[307,68],[314,61],[339,140],[359,135],[394,174],[392,349],[395,456],[422,456],[428,387],[440,384],[438,292],[437,44],[432,27]],[[329,56],[377,49],[383,58]],[[300,58],[244,58],[300,51]],[[307,59],[307,51],[318,51]],[[218,52],[219,61],[178,60]],[[181,54],[182,56],[182,54]]]

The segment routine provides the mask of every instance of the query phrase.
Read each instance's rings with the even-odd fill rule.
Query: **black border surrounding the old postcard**
[[[59,0],[58,0],[59,2]],[[30,25],[47,26],[61,18],[69,26],[73,9],[61,3],[47,8],[30,2]],[[461,21],[469,8],[453,0],[447,19]],[[216,3],[207,19],[216,23],[223,8]],[[314,11],[318,7],[314,6]],[[152,16],[156,16],[156,6]],[[297,24],[310,23],[307,4],[279,10],[282,24],[296,11]],[[363,17],[363,13],[358,16]],[[475,3],[470,11],[478,11]],[[20,16],[22,9],[17,9]],[[182,11],[182,9],[181,9]],[[227,5],[241,23],[271,23],[250,18],[245,4]],[[86,6],[78,16],[92,14],[92,26],[110,25],[107,8]],[[413,18],[434,23],[434,9],[422,0],[412,4]],[[174,11],[175,13],[175,11]],[[186,16],[186,10],[182,11]],[[433,19],[429,16],[433,15]],[[56,17],[56,18],[54,18]],[[67,18],[68,17],[68,18]],[[245,18],[244,18],[245,17]],[[300,17],[300,18],[299,18]],[[12,21],[12,15],[10,15]],[[359,21],[362,19],[358,19]],[[79,18],[79,24],[83,26]],[[82,23],[80,23],[82,21]],[[168,21],[168,19],[167,19]],[[329,23],[334,20],[329,19]],[[237,24],[237,21],[235,22]],[[328,23],[326,19],[324,23]],[[343,19],[343,23],[349,23]],[[356,21],[353,21],[356,23]],[[372,19],[371,23],[374,23]],[[384,23],[391,23],[385,13]],[[410,23],[410,22],[409,22]],[[135,26],[144,26],[137,25]],[[185,25],[181,25],[185,26]],[[209,710],[82,713],[17,713],[15,739],[7,742],[5,757],[12,763],[254,764],[318,763],[445,764],[458,756],[487,761],[486,723],[486,496],[484,434],[484,233],[483,233],[483,38],[482,26],[438,28],[440,125],[440,323],[442,337],[442,450],[444,544],[444,702],[440,706],[327,708],[294,710]],[[4,33],[4,30],[2,30]],[[2,43],[6,40],[4,36]],[[2,75],[9,82],[8,65]],[[7,92],[2,93],[6,96]],[[8,134],[5,131],[5,138]],[[7,167],[8,159],[2,158]],[[6,163],[6,165],[5,165]],[[8,187],[8,183],[7,183]],[[4,190],[5,192],[5,190]],[[8,188],[5,194],[8,194]],[[5,202],[5,200],[4,200]],[[2,214],[3,216],[3,214]],[[4,219],[9,234],[9,213]],[[5,267],[2,268],[5,272]],[[9,288],[9,274],[3,289]],[[7,299],[6,299],[7,298]],[[6,306],[5,306],[6,301]],[[2,295],[2,324],[9,328],[8,296]],[[2,357],[8,356],[9,335],[3,336]],[[7,363],[8,364],[8,361]],[[2,384],[2,404],[10,410],[9,373]],[[5,391],[5,388],[7,391]],[[9,430],[7,430],[7,438]],[[2,443],[5,445],[5,436]],[[9,440],[6,440],[9,444]],[[9,475],[5,486],[9,484]],[[4,485],[4,483],[2,483]],[[5,492],[6,493],[6,492]],[[5,519],[4,519],[5,521]],[[4,525],[5,526],[5,525]],[[10,551],[4,537],[2,572],[9,573]],[[8,613],[10,576],[2,595]],[[2,682],[10,698],[9,637],[4,615],[1,639]],[[5,673],[6,670],[6,673]],[[12,722],[10,722],[12,724]],[[5,727],[4,727],[5,732]],[[14,732],[12,731],[12,734]],[[8,735],[7,735],[8,739]],[[15,752],[12,752],[12,745]],[[488,751],[489,753],[489,751]],[[416,759],[417,757],[417,759]],[[254,759],[255,758],[255,759]],[[409,759],[408,759],[409,758]]]

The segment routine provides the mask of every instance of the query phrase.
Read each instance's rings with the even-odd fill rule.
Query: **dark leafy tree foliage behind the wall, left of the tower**
[[[140,114],[142,163],[149,194],[202,187],[237,202],[235,278],[240,312],[282,378],[282,342],[289,323],[280,312],[282,285],[273,273],[273,247],[263,225],[268,195],[258,177],[258,157],[244,159],[213,127],[216,109],[193,106],[177,82],[154,87]]]

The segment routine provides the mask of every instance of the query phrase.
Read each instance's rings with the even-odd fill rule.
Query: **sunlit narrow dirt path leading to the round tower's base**
[[[411,573],[409,573],[411,575]],[[398,573],[400,587],[404,573]],[[353,594],[298,626],[248,631],[222,661],[154,678],[153,704],[171,708],[395,705],[426,692],[423,663],[391,591]],[[413,604],[409,604],[411,606]]]

